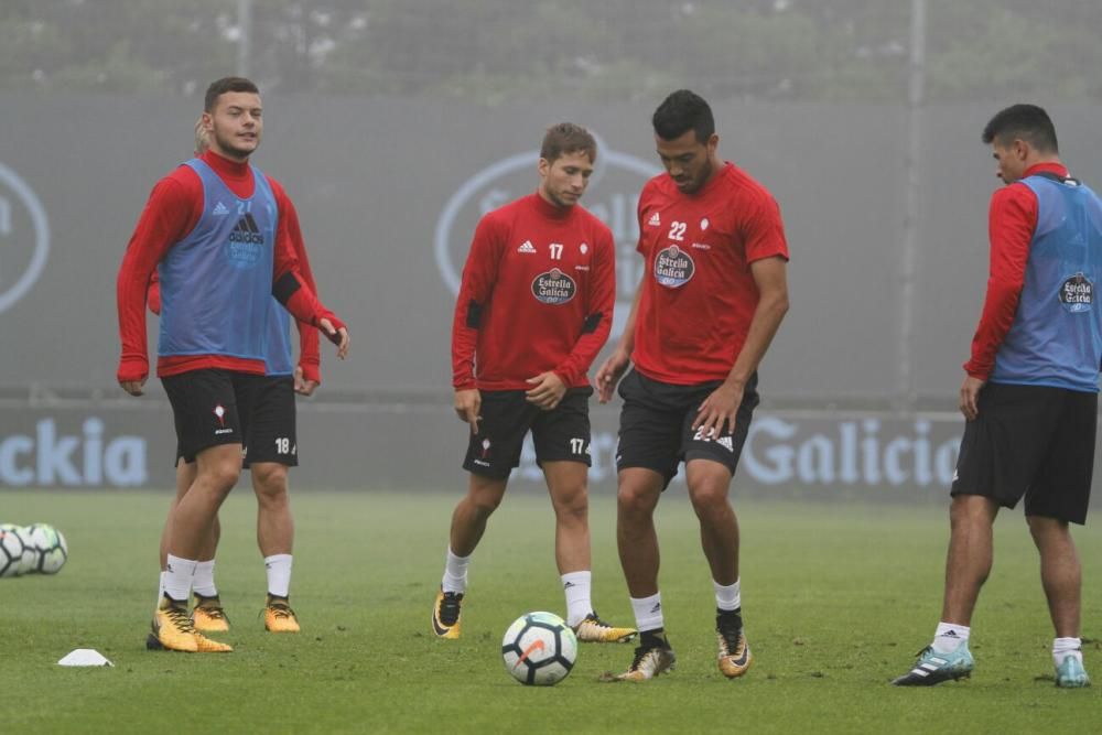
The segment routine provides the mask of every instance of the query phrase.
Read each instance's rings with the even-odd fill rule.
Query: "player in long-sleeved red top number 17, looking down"
[[[608,338],[616,293],[609,229],[582,208],[597,147],[563,122],[543,138],[533,194],[478,223],[452,328],[455,412],[471,425],[466,496],[455,507],[433,633],[460,637],[467,565],[531,431],[555,514],[566,623],[579,640],[620,641],[590,601],[586,372]]]

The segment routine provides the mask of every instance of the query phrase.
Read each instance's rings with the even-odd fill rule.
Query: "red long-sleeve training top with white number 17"
[[[485,215],[455,306],[452,385],[522,390],[548,370],[588,385],[612,326],[614,258],[612,231],[580,205],[531,194]]]

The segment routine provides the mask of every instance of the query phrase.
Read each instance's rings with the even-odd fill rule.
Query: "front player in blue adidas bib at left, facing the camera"
[[[172,514],[164,595],[153,633],[172,650],[228,651],[198,634],[187,598],[218,507],[237,483],[246,423],[264,379],[268,304],[348,349],[348,331],[299,273],[289,241],[287,194],[249,165],[263,130],[260,94],[239,77],[218,79],[204,100],[210,150],[162,179],[142,210],[117,283],[122,355],[118,380],[141,396],[149,374],[145,299],[161,281],[158,376],[172,403],[180,451],[195,482]]]

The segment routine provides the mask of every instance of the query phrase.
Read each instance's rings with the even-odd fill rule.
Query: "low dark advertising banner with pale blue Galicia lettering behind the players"
[[[150,398],[0,413],[0,486],[168,488],[175,435],[168,403]],[[616,485],[615,407],[595,407],[594,491]],[[963,420],[953,414],[759,412],[735,478],[738,491],[905,498],[952,482]],[[447,406],[338,407],[300,402],[296,488],[437,490],[462,487],[466,424]],[[543,483],[529,440],[514,483]],[[673,484],[681,483],[674,478]]]

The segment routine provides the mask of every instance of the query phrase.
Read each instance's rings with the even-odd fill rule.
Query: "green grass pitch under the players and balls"
[[[242,484],[244,485],[244,484]],[[932,635],[948,520],[941,504],[738,501],[743,601],[755,664],[715,667],[713,598],[683,490],[659,507],[661,587],[678,669],[603,684],[630,646],[583,646],[571,675],[528,688],[499,647],[521,613],[562,614],[552,516],[541,494],[507,496],[471,569],[463,638],[429,615],[456,495],[293,494],[292,604],[304,630],[263,631],[263,569],[247,487],[223,509],[217,580],[230,655],[148,652],[156,542],[169,496],[0,489],[0,521],[51,522],[69,561],[53,577],[0,580],[4,733],[1017,733],[1091,732],[1102,712],[1102,540],[1077,529],[1084,566],[1083,691],[1054,687],[1051,628],[1020,512],[996,526],[995,569],[973,620],[976,671],[933,689],[887,684]],[[630,625],[615,505],[592,500],[594,602]],[[1096,517],[1093,519],[1099,520]],[[65,669],[96,648],[114,669]],[[1094,723],[1091,725],[1090,723]]]

